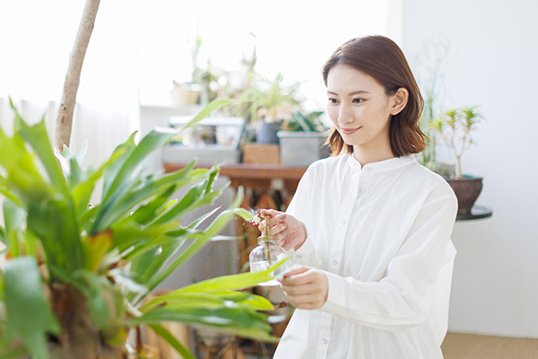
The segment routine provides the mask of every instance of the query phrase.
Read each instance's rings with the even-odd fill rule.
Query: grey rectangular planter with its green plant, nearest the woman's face
[[[297,110],[284,121],[283,130],[278,132],[281,162],[284,166],[308,166],[329,155],[324,145],[327,128],[319,117],[323,111],[303,114]]]

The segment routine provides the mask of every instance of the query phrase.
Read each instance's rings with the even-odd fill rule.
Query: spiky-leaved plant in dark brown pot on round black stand
[[[456,161],[456,172],[446,176],[458,200],[458,215],[471,213],[474,201],[482,191],[482,177],[462,173],[461,158],[464,151],[473,144],[472,133],[482,121],[476,106],[448,109],[440,117],[430,120],[430,128],[439,136],[443,144],[452,151]]]

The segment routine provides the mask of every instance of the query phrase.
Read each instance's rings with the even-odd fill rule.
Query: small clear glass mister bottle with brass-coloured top
[[[266,222],[267,216],[265,216],[264,219]],[[258,246],[250,252],[250,271],[252,273],[260,272],[285,258],[289,258],[288,253],[286,253],[286,250],[281,246],[276,244],[274,236],[271,235],[271,229],[269,226],[265,225],[262,235],[258,237]],[[273,272],[273,276],[282,275],[289,269],[289,267],[291,267],[291,262],[288,260],[281,267],[276,268]],[[272,279],[260,283],[259,285],[280,285],[280,283],[277,279]]]

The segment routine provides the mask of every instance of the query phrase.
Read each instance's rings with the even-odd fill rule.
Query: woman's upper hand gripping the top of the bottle
[[[284,250],[299,250],[307,240],[307,227],[294,216],[273,209],[262,209],[260,213],[269,215],[267,222],[271,228],[271,235]],[[263,232],[263,226],[264,223],[259,224],[260,232]]]

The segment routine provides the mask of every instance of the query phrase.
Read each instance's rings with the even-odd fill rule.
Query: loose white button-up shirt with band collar
[[[287,210],[308,239],[291,253],[325,272],[327,301],[293,313],[274,358],[442,358],[456,211],[447,181],[413,156],[310,165]]]

